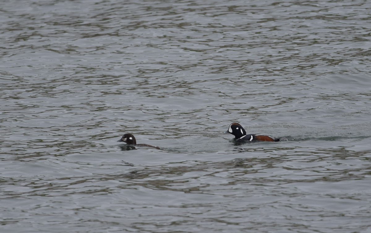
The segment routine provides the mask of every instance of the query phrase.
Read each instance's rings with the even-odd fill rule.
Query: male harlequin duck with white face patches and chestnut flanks
[[[238,141],[269,141],[278,142],[279,138],[273,138],[263,134],[246,134],[246,131],[238,123],[232,123],[229,125],[226,133],[234,135],[234,140]]]

